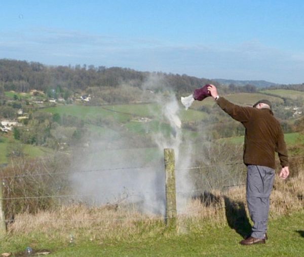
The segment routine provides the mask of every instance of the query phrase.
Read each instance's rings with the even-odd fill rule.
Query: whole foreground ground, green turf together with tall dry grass
[[[303,167],[303,166],[301,166]],[[301,170],[302,171],[302,170]],[[144,214],[134,205],[62,205],[54,210],[15,215],[0,238],[0,254],[23,256],[27,246],[51,256],[301,256],[304,248],[302,172],[275,178],[266,244],[242,246],[252,223],[245,186],[212,191],[211,204],[191,200],[183,206],[176,229],[161,215]],[[73,243],[69,240],[73,237]],[[1,237],[1,236],[0,236]]]

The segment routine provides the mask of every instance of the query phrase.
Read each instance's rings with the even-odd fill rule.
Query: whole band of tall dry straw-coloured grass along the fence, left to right
[[[272,218],[291,214],[303,209],[304,175],[298,173],[284,181],[275,180],[271,195],[270,215]],[[204,197],[192,200],[185,212],[178,215],[178,231],[185,233],[205,229],[205,226],[222,227],[231,224],[232,218],[249,217],[246,207],[245,187],[234,187],[229,191],[214,191]],[[208,199],[208,197],[210,197]],[[242,219],[243,221],[243,219]],[[249,221],[249,219],[248,219]],[[155,234],[166,234],[161,216],[146,215],[123,206],[108,205],[89,207],[84,204],[61,206],[56,210],[40,211],[36,214],[22,213],[9,224],[11,235],[41,232],[49,239],[65,240],[70,234],[83,240],[106,238],[142,238]]]

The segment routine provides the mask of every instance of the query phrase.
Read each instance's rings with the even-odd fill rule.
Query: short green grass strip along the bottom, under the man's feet
[[[242,246],[242,237],[228,225],[204,224],[201,230],[185,234],[169,232],[152,225],[141,228],[132,237],[104,240],[75,238],[74,246],[66,240],[54,241],[48,235],[29,233],[8,235],[0,244],[2,252],[24,251],[26,246],[49,249],[51,256],[302,256],[304,249],[304,212],[270,219],[266,244]],[[137,223],[141,226],[140,223]],[[103,233],[100,228],[99,233]]]

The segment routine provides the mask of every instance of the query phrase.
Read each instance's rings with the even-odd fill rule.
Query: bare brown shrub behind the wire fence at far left
[[[68,164],[66,156],[58,154],[36,160],[11,158],[10,165],[0,170],[6,218],[58,206],[60,199],[53,196],[68,191],[67,174],[55,173],[66,170]]]

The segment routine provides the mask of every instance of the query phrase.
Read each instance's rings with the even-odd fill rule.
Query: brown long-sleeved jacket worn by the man
[[[244,163],[275,168],[275,152],[282,167],[288,166],[284,134],[270,109],[235,105],[224,97],[216,100],[223,111],[245,127]]]

